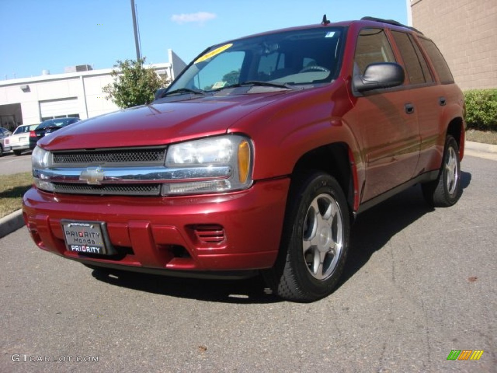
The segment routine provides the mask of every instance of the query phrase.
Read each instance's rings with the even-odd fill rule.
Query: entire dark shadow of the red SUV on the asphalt
[[[461,181],[463,188],[468,187],[471,174],[463,172]],[[430,211],[420,187],[416,186],[358,215],[352,226],[349,254],[338,287],[358,272],[391,237]],[[199,280],[110,269],[95,269],[92,276],[116,286],[178,298],[239,304],[282,301],[260,276],[244,280]]]

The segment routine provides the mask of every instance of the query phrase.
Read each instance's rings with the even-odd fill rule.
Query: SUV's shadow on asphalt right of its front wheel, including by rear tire
[[[471,174],[461,172],[461,198],[470,183]],[[424,201],[421,187],[416,185],[357,215],[350,232],[347,261],[337,287],[358,272],[394,235],[431,211],[433,208]]]

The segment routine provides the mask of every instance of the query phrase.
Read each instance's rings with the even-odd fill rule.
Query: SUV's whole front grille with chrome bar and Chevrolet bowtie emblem
[[[186,180],[224,182],[232,168],[168,168],[166,146],[67,150],[49,153],[48,167],[33,168],[36,186],[66,194],[162,196],[163,186]],[[164,190],[163,190],[164,189]]]

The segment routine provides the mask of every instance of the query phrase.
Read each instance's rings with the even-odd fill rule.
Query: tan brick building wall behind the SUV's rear
[[[497,0],[411,0],[411,11],[462,90],[497,88]]]

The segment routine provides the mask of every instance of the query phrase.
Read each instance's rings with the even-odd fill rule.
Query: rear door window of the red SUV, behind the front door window
[[[431,74],[424,57],[414,40],[405,32],[392,31],[399,48],[411,84],[432,82]]]

